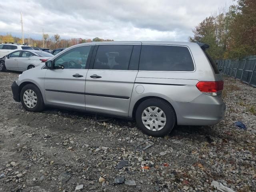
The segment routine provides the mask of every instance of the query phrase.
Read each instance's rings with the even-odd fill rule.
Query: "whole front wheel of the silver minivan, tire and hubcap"
[[[44,109],[44,100],[37,86],[34,84],[25,85],[20,92],[22,106],[32,112],[40,112]]]

